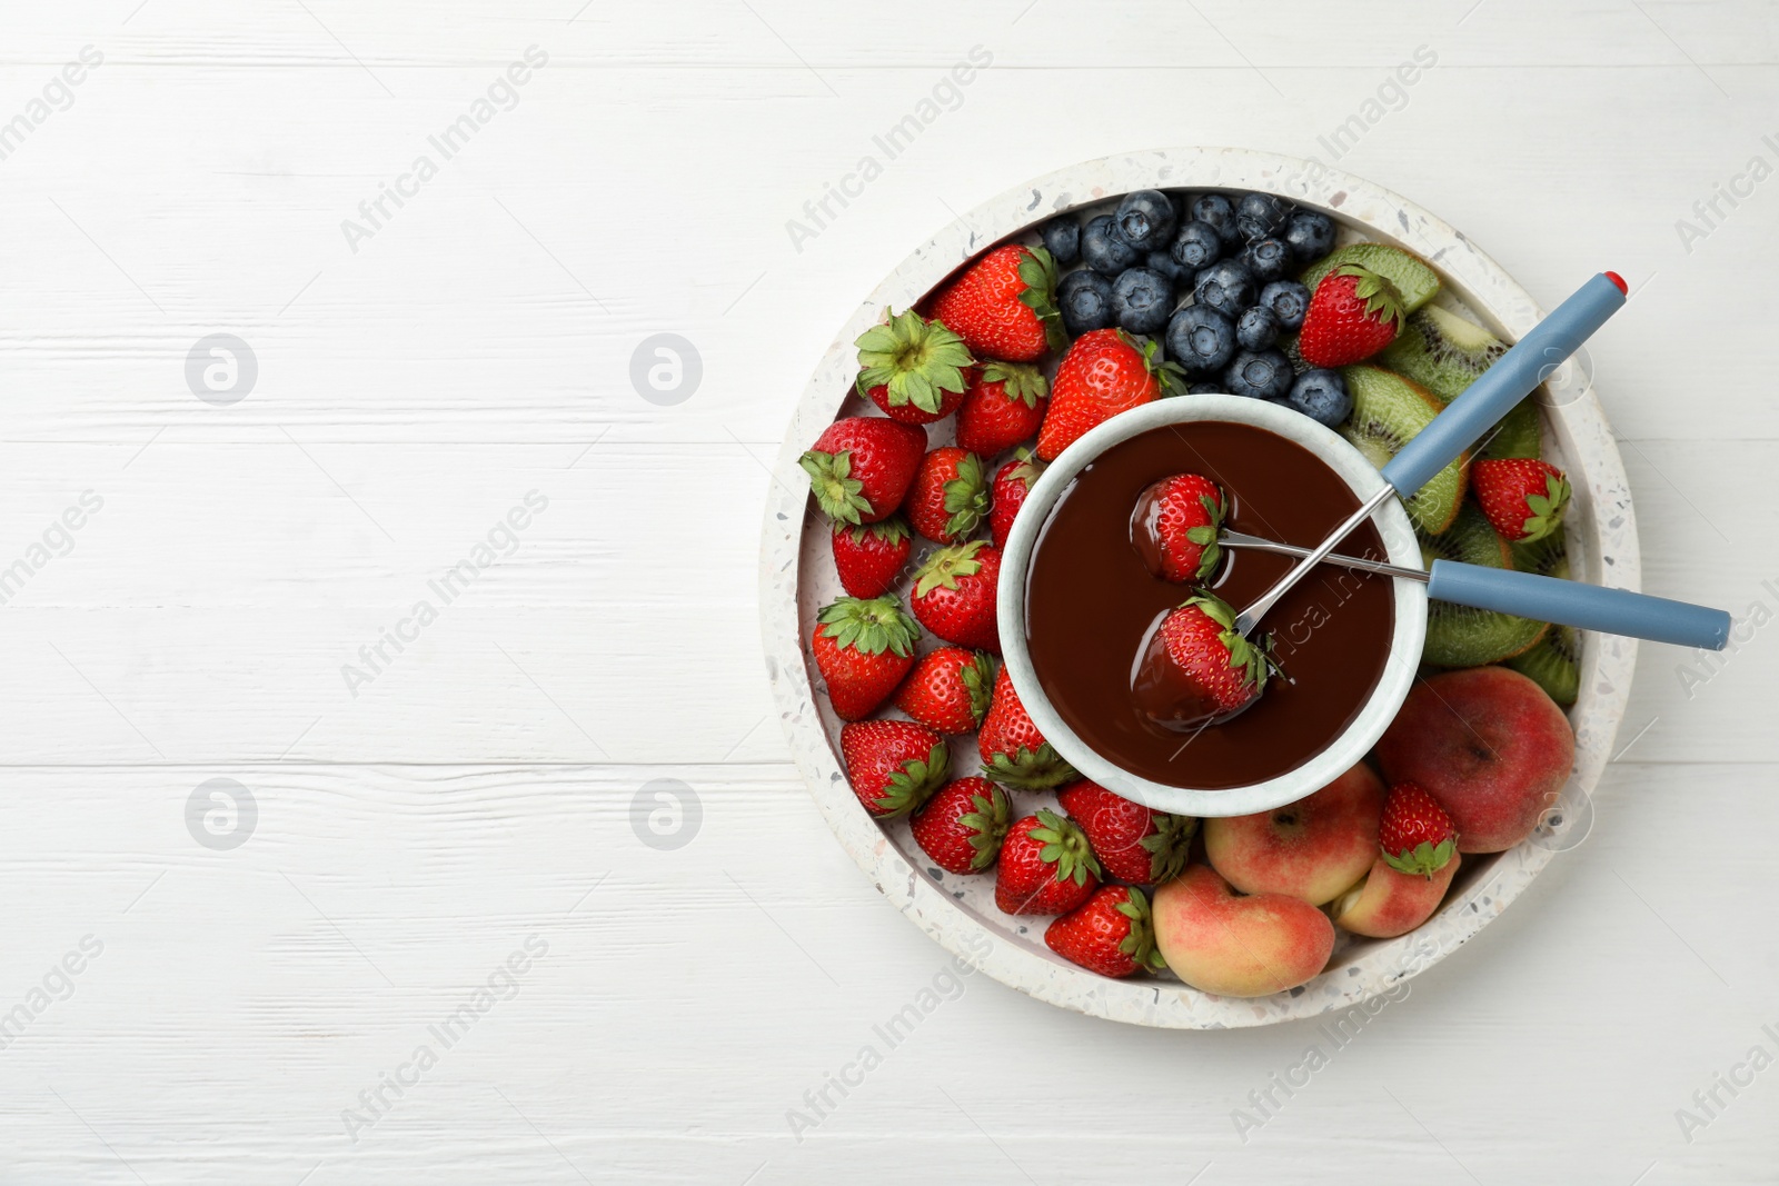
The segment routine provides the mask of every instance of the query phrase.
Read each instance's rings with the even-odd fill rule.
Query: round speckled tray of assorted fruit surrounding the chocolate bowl
[[[1183,770],[1183,784],[1215,788],[1309,761],[1327,749],[1315,727],[1332,693],[1320,688],[1364,699],[1382,669],[1366,631],[1389,637],[1391,580],[1352,578],[1302,638],[1283,615],[1268,631],[1238,626],[1219,592],[1274,557],[1236,551],[1229,528],[1265,525],[1302,546],[1325,530],[1311,519],[1332,514],[1313,482],[1268,477],[1288,466],[1265,450],[1295,446],[1252,430],[1261,452],[1245,455],[1238,425],[1220,421],[1179,425],[1178,443],[1135,437],[1085,468],[1071,446],[1135,409],[1199,400],[1265,405],[1267,423],[1331,430],[1384,468],[1542,317],[1432,213],[1245,149],[1064,169],[922,244],[817,368],[761,544],[779,715],[875,887],[971,969],[1162,1028],[1359,1006],[1493,921],[1585,836],[1633,640],[1421,601],[1418,669],[1361,761],[1267,811],[1210,797],[1183,814],[1083,777],[1046,740],[1002,661],[996,587],[1026,581],[1019,638],[1051,672],[1044,711],[1085,722],[1071,745],[1123,736],[1121,713],[1137,711],[1151,741],[1171,749],[1163,727],[1181,738],[1176,765],[1156,750],[1162,781]],[[1409,491],[1393,548],[1635,590],[1630,493],[1589,372],[1585,359],[1551,366]],[[1194,462],[1199,446],[1247,477]],[[1059,457],[1076,459],[1078,523],[1062,509],[1021,521]],[[1009,553],[1009,576],[1016,523],[1026,544],[1051,542],[1030,567]],[[1062,557],[1048,569],[1046,551]],[[1096,658],[1117,617],[1114,571],[1131,574],[1142,621]],[[1142,633],[1156,597],[1172,608]],[[1030,699],[1032,667],[1021,672]],[[1329,729],[1345,720],[1336,708]],[[1208,727],[1213,741],[1197,741]]]

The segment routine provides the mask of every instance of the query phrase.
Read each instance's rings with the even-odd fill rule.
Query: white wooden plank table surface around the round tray
[[[7,4],[0,1181],[1774,1181],[1775,100],[1756,0]],[[1192,142],[1628,276],[1646,587],[1743,644],[1644,649],[1589,841],[1356,1037],[978,978],[888,1047],[946,960],[770,717],[765,462],[950,212]]]

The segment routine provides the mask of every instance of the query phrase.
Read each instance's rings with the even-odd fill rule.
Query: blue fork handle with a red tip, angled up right
[[[1622,308],[1624,292],[1605,272],[1576,288],[1573,297],[1533,325],[1532,333],[1404,445],[1402,452],[1384,466],[1384,480],[1404,498],[1411,498]]]

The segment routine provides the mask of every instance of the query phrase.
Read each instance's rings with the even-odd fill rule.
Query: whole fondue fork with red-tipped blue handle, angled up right
[[[1334,551],[1347,535],[1391,498],[1413,498],[1436,473],[1452,464],[1466,448],[1523,400],[1551,370],[1574,354],[1606,318],[1624,308],[1624,279],[1601,272],[1532,327],[1507,354],[1471,382],[1462,395],[1414,436],[1384,466],[1384,487],[1364,500],[1340,526],[1304,553],[1290,573],[1263,592],[1236,619],[1236,633],[1247,637],[1277,605],[1292,585]]]

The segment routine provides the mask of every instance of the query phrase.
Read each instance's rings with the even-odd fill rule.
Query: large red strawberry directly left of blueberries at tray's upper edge
[[[1057,261],[1042,247],[996,247],[934,297],[930,311],[980,357],[1034,363],[1064,343]]]

